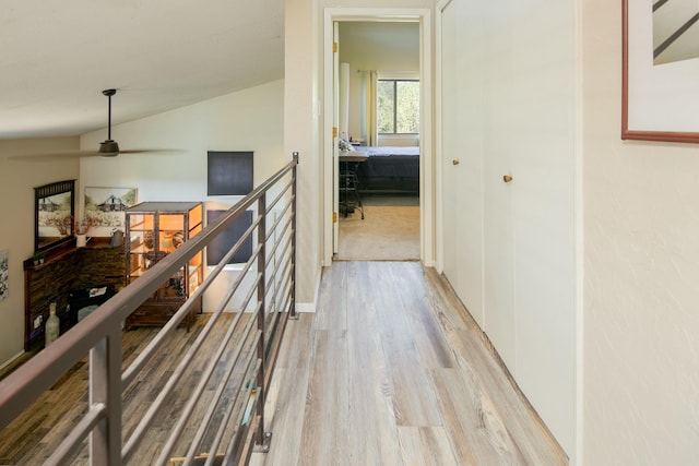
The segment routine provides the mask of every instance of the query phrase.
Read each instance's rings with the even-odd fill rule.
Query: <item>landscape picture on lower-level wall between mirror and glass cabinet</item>
[[[126,227],[126,211],[138,202],[137,188],[85,187],[84,215],[92,225],[90,236],[110,236]]]

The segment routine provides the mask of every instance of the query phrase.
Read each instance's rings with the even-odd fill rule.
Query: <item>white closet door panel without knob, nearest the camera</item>
[[[522,9],[511,28],[520,96],[513,115],[528,123],[518,134],[511,186],[517,381],[568,452],[574,445],[576,12],[568,0],[552,3],[545,16]],[[536,34],[544,29],[555,39]],[[542,83],[557,83],[555,92]]]

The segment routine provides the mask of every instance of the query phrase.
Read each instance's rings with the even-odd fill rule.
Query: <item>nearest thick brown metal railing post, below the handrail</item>
[[[121,328],[90,350],[90,406],[104,404],[106,416],[90,435],[92,465],[121,464]]]

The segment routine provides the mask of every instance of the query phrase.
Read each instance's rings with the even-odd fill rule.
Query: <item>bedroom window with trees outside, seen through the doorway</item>
[[[419,81],[379,80],[377,89],[379,134],[417,134]]]

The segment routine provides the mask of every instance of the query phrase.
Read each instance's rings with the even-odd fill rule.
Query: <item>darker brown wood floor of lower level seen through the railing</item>
[[[197,315],[192,328],[178,328],[170,337],[167,347],[158,351],[155,357],[139,373],[134,382],[123,392],[123,432],[130,435],[143,413],[151,406],[161,393],[167,378],[173,373],[179,360],[192,345],[199,332],[202,330],[211,314]],[[178,415],[185,409],[194,389],[196,382],[201,378],[201,370],[215,353],[221,337],[225,334],[236,314],[224,313],[221,315],[213,336],[208,338],[202,348],[202,354],[190,363],[185,374],[183,383],[179,384],[176,393],[170,397],[168,411],[162,411],[151,429],[146,431],[145,439],[137,449],[130,462],[134,465],[152,465],[155,463],[162,446],[165,444]],[[248,321],[247,314],[242,316],[242,323]],[[123,367],[128,367],[142,353],[159,328],[134,328],[122,333]],[[238,332],[238,331],[236,331]],[[234,337],[235,338],[235,337]],[[229,345],[233,346],[233,345]],[[233,353],[229,350],[226,355]],[[76,363],[64,374],[49,391],[45,392],[27,410],[0,431],[0,465],[39,465],[60,444],[67,430],[73,428],[82,418],[87,405],[87,363],[86,357]],[[221,362],[216,369],[221,375],[223,366]],[[239,372],[239,370],[236,370]],[[239,375],[241,377],[241,375]],[[237,383],[238,377],[233,378]],[[186,427],[187,434],[176,445],[175,451],[181,455],[187,452],[188,439],[194,431],[194,426],[209,407],[214,383],[210,383],[202,394],[192,421]],[[233,395],[227,393],[227,398]],[[208,438],[211,433],[208,433]],[[72,465],[88,464],[86,442]],[[178,456],[176,454],[175,456]]]

